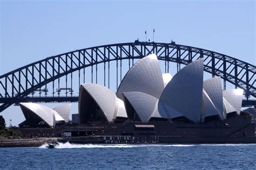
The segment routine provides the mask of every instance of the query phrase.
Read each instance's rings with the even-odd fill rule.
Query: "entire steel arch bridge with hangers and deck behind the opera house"
[[[101,83],[110,88],[122,81],[124,67],[155,53],[164,62],[164,72],[174,63],[182,66],[204,58],[204,71],[220,76],[226,83],[244,90],[244,107],[256,106],[256,67],[239,59],[175,42],[140,42],[111,44],[78,49],[50,56],[0,76],[0,112],[19,102],[77,102],[79,84]],[[122,66],[123,63],[123,66]],[[123,70],[123,73],[122,73]],[[104,78],[103,78],[104,76]]]

